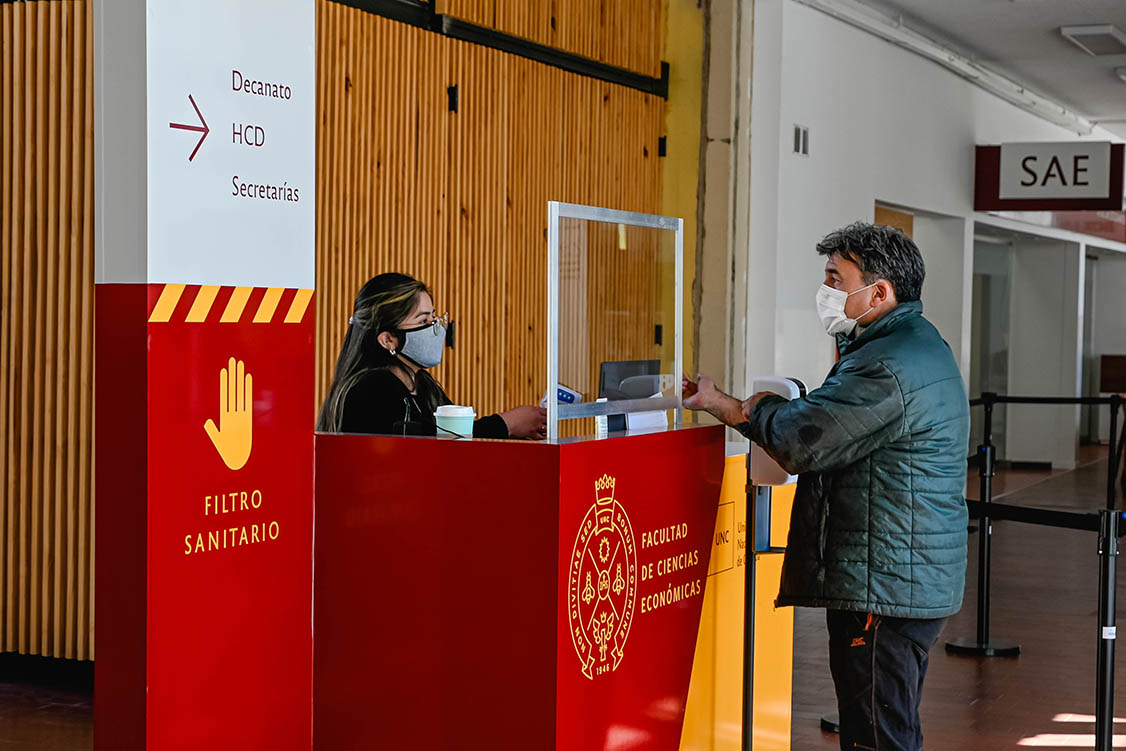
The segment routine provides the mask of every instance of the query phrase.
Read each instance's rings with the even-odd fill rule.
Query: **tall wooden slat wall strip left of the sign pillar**
[[[0,5],[0,652],[93,656],[91,3]]]

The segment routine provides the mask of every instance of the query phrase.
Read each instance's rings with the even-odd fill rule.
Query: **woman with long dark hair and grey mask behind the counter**
[[[356,295],[316,429],[323,432],[435,435],[434,412],[449,397],[427,368],[441,363],[449,322],[430,290],[403,274],[381,274]],[[452,345],[450,345],[452,346]],[[546,413],[518,406],[473,426],[475,438],[542,439]]]

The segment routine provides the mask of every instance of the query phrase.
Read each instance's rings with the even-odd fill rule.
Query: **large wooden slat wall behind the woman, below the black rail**
[[[458,321],[457,349],[435,373],[452,399],[481,414],[538,403],[547,202],[658,213],[663,100],[332,2],[319,9],[319,399],[356,290],[396,270],[427,281],[438,310]],[[383,62],[370,66],[373,60]],[[446,88],[455,83],[459,106],[450,113]],[[374,106],[357,106],[361,97]],[[429,135],[413,138],[414,123]],[[386,133],[374,124],[385,124]],[[365,137],[381,144],[374,163],[363,157]],[[388,181],[381,173],[404,177]],[[363,205],[385,226],[365,235],[363,218],[337,204],[368,195]],[[622,253],[616,227],[591,233],[596,262],[583,269],[584,315],[609,334],[575,357],[593,388],[602,360],[658,356],[653,318],[613,313],[623,307],[616,299],[635,310],[658,305],[654,235],[628,236]],[[566,332],[587,346],[584,329]]]

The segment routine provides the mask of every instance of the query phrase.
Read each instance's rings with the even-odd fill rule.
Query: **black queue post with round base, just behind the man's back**
[[[946,643],[946,651],[978,658],[1015,658],[1020,654],[1020,645],[1003,640],[991,640],[990,620],[990,558],[993,525],[989,517],[989,504],[993,501],[993,476],[997,474],[997,449],[993,446],[993,406],[998,395],[982,394],[984,409],[982,445],[977,447],[977,474],[981,482],[981,502],[986,509],[977,522],[977,634],[975,637],[954,638]]]

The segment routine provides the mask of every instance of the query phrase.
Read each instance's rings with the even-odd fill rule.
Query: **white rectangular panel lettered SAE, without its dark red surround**
[[[1108,198],[1110,143],[1001,144],[1000,198]]]

